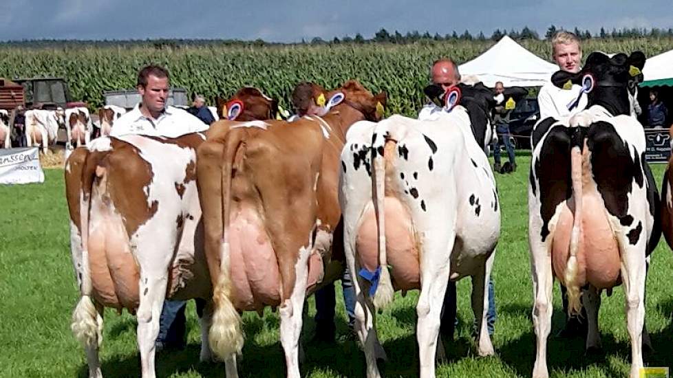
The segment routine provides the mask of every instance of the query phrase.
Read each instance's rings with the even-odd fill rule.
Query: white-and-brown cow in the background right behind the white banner
[[[32,109],[25,111],[25,146],[40,146],[47,153],[48,146],[56,144],[58,128],[65,126],[65,111]]]

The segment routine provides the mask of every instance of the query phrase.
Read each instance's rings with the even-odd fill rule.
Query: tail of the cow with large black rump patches
[[[579,129],[579,128],[578,128]],[[579,264],[577,262],[577,249],[579,249],[581,221],[582,221],[582,148],[581,144],[574,144],[570,150],[570,178],[573,183],[573,199],[575,201],[575,216],[573,217],[573,230],[570,233],[570,256],[566,265],[564,280],[568,289],[568,314],[577,314],[581,311],[580,287],[577,282]]]

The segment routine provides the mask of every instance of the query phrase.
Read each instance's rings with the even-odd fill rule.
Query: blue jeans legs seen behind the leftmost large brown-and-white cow
[[[195,299],[196,312],[199,317],[203,316],[203,310],[206,301],[200,298]],[[173,348],[184,348],[186,344],[186,329],[184,309],[187,306],[186,300],[164,300],[164,307],[161,309],[159,318],[159,335],[156,343]]]

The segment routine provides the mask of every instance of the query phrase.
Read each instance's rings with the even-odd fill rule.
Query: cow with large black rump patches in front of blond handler
[[[533,129],[528,238],[535,378],[548,377],[546,339],[554,277],[568,288],[569,313],[586,307],[586,348],[600,347],[601,291],[610,293],[623,282],[632,348],[630,377],[638,377],[643,367],[645,276],[661,236],[659,194],[645,162],[645,133],[630,116],[627,90],[644,64],[641,52],[612,58],[592,53],[579,73],[557,72],[552,77],[557,87],[584,87],[588,107],[569,119],[546,118]]]

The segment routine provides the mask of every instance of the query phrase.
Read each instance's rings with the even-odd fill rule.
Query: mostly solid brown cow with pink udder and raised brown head
[[[280,307],[288,377],[299,377],[307,291],[324,278],[341,211],[339,156],[359,120],[379,120],[385,93],[346,82],[345,100],[324,118],[217,122],[198,151],[206,257],[215,294],[211,349],[237,377],[243,347],[238,311]],[[377,106],[378,105],[378,106]],[[329,269],[328,269],[329,268]]]

